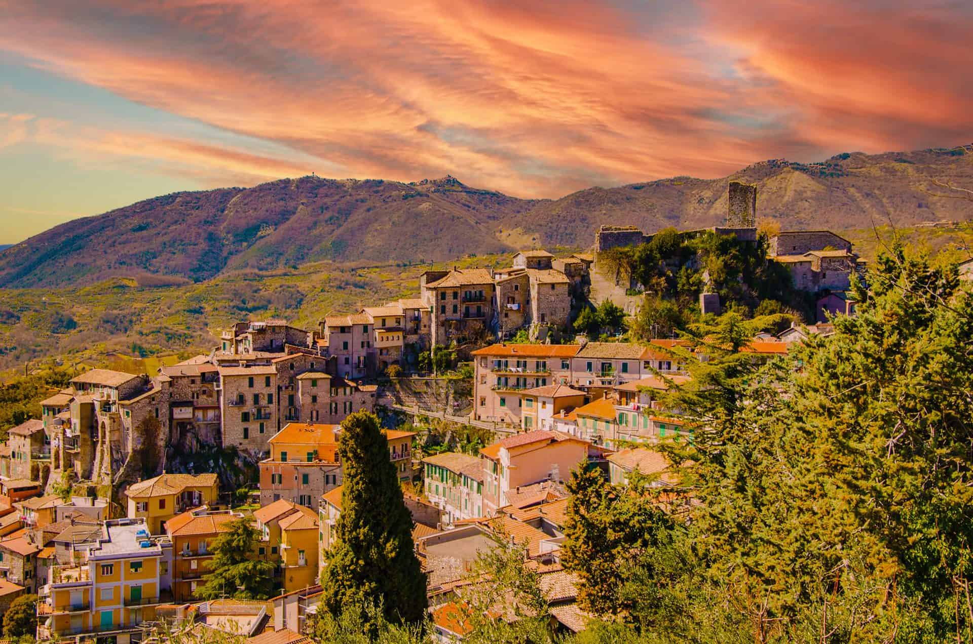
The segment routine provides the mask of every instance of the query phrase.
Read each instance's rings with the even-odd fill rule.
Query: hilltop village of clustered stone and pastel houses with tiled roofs
[[[756,190],[731,183],[729,191],[726,226],[711,232],[755,243]],[[162,620],[201,629],[233,621],[248,641],[302,641],[342,515],[342,422],[369,411],[384,423],[440,641],[466,632],[450,611],[497,537],[521,547],[540,575],[556,628],[583,630],[593,616],[579,607],[578,577],[559,554],[571,472],[587,463],[616,485],[633,473],[654,487],[676,485],[682,464],[655,447],[691,445],[701,426],[667,393],[692,379],[690,363],[705,362],[705,350],[683,339],[571,333],[590,305],[599,256],[651,239],[602,227],[590,253],[532,249],[500,270],[429,270],[414,298],[335,312],[316,329],[241,321],[208,354],[153,376],[74,376],[0,449],[0,610],[38,594],[38,641],[126,644]],[[853,315],[847,291],[863,270],[835,233],[767,241],[769,259],[815,299],[820,319],[755,334],[741,351],[756,364],[832,333],[831,316]],[[703,313],[720,307],[700,294]],[[402,382],[442,376],[441,350],[468,365],[461,404],[433,409],[403,397]],[[421,371],[432,374],[419,374],[426,352],[432,367]],[[410,417],[414,424],[402,422]],[[423,451],[422,417],[476,428],[489,441]],[[174,449],[201,447],[232,449],[254,466],[247,498],[218,472],[169,462]],[[271,564],[275,594],[201,602],[213,544],[236,519],[261,535],[248,555]]]

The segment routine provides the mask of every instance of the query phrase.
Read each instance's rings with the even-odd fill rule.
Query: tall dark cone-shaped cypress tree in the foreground
[[[366,609],[380,604],[392,624],[417,622],[425,614],[425,575],[413,552],[413,520],[388,460],[388,442],[373,413],[352,413],[342,428],[342,514],[338,544],[321,572],[324,606],[332,616],[355,606],[376,626]]]

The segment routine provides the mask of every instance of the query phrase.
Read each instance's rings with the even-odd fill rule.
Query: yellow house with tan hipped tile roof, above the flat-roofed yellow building
[[[145,519],[152,534],[178,514],[216,503],[220,493],[215,474],[162,474],[128,487],[128,519]]]

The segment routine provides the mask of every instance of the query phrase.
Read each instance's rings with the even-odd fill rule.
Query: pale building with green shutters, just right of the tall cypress
[[[449,451],[422,459],[422,489],[448,523],[483,517],[484,461]]]

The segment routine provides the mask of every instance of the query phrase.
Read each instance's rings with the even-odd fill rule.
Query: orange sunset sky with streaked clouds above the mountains
[[[969,0],[0,0],[0,243],[182,190],[516,197],[973,141]]]

